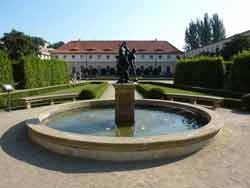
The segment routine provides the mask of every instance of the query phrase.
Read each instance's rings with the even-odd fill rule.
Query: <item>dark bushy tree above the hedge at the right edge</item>
[[[221,55],[225,60],[230,60],[234,55],[250,49],[250,38],[236,35],[230,42],[227,42],[221,50]]]

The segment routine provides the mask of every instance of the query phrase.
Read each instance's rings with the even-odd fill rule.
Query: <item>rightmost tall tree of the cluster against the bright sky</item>
[[[213,42],[224,39],[226,36],[226,31],[223,25],[223,21],[219,18],[218,14],[213,14],[210,22]]]

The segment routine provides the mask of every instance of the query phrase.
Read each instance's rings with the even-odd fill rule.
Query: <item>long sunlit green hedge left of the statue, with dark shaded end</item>
[[[23,57],[14,64],[14,77],[17,88],[39,88],[66,84],[69,72],[64,61],[41,60],[38,57]]]

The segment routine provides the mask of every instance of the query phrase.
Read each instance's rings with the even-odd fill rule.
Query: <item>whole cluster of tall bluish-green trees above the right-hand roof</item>
[[[185,31],[185,49],[193,50],[225,38],[223,21],[218,14],[212,17],[206,13],[203,19],[191,20]]]

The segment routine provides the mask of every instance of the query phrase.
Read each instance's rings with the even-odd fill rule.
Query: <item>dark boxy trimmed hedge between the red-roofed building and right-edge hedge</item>
[[[181,59],[175,70],[174,83],[221,89],[224,86],[225,67],[221,57]]]

